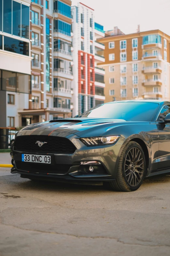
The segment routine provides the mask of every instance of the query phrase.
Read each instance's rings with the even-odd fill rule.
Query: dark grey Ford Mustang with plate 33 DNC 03
[[[135,191],[170,172],[170,102],[117,101],[80,116],[22,128],[11,147],[21,178],[104,184]]]

